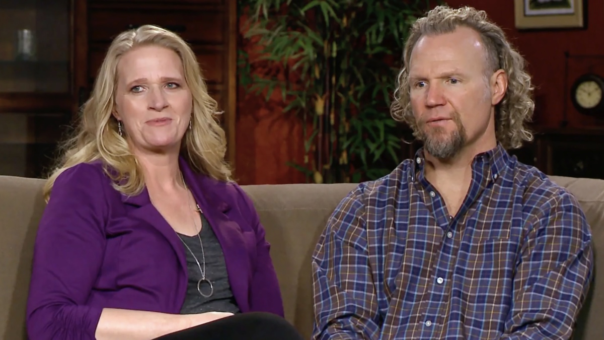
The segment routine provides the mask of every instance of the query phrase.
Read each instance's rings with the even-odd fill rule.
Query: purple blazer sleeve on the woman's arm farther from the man
[[[101,309],[86,306],[104,256],[107,178],[80,164],[57,177],[34,244],[27,302],[31,340],[94,340]]]

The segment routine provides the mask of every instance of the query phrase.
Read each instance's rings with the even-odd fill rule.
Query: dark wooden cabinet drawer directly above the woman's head
[[[95,8],[89,13],[91,42],[111,41],[121,32],[145,24],[175,31],[187,42],[220,44],[225,40],[226,20],[221,10],[166,10]]]

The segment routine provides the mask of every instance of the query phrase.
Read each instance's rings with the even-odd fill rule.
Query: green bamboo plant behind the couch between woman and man
[[[401,126],[390,100],[406,34],[427,0],[239,0],[248,16],[239,51],[240,86],[257,95],[280,91],[284,112],[300,117],[303,163],[315,183],[379,178],[400,162]],[[259,73],[254,63],[283,70]],[[270,70],[270,68],[269,68]]]

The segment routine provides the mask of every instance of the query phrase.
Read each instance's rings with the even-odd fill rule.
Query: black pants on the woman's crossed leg
[[[294,326],[270,313],[228,316],[156,340],[303,340]]]

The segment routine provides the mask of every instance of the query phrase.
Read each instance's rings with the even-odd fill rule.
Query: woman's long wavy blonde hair
[[[126,139],[118,133],[118,122],[112,114],[115,107],[117,65],[133,48],[155,45],[169,48],[182,61],[185,81],[193,97],[191,129],[187,129],[181,155],[191,167],[216,180],[229,181],[231,169],[225,162],[226,138],[220,127],[217,102],[208,94],[195,54],[188,44],[171,31],[153,25],[124,31],[109,50],[94,82],[90,98],[82,106],[74,136],[62,146],[62,156],[43,188],[48,201],[56,178],[66,169],[80,163],[101,160],[104,172],[114,180],[114,188],[126,195],[140,193],[144,186],[143,172],[130,152]]]

